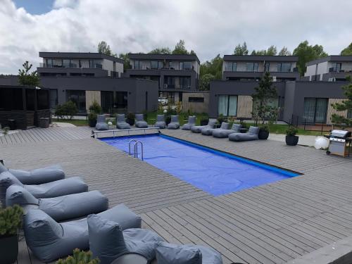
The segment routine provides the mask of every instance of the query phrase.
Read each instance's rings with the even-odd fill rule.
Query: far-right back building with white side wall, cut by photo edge
[[[352,56],[327,56],[306,63],[304,77],[310,81],[343,82],[352,76]]]

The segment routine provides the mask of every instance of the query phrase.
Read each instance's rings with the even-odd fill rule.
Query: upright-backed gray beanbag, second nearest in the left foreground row
[[[150,230],[132,228],[122,231],[118,222],[104,219],[99,215],[89,215],[89,249],[93,258],[101,264],[110,264],[125,253],[139,253],[148,260],[155,258],[155,247],[163,241]]]

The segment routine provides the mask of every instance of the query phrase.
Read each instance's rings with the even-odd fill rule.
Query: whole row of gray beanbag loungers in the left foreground
[[[142,219],[132,210],[123,204],[108,209],[105,196],[88,191],[80,177],[65,179],[59,165],[25,171],[8,170],[0,163],[0,196],[6,206],[23,206],[27,246],[45,263],[76,248],[90,249],[101,264],[125,253],[156,257],[158,263],[222,263],[213,249],[167,244],[158,234],[141,229]],[[82,216],[87,218],[70,220]]]

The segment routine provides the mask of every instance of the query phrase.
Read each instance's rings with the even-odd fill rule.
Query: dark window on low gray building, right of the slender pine
[[[326,98],[305,98],[303,122],[325,123],[327,120]]]

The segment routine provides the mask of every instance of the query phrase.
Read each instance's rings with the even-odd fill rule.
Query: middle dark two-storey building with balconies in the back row
[[[129,54],[125,76],[158,82],[160,96],[182,101],[182,92],[198,89],[200,62],[196,55]]]

